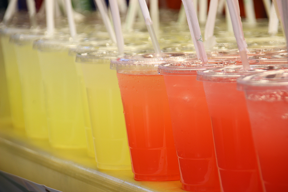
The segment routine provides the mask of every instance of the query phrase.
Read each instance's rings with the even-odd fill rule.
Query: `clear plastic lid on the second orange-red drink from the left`
[[[208,64],[205,65],[200,60],[168,62],[158,66],[158,73],[161,75],[197,75],[198,70],[235,64],[233,60],[224,59],[209,59]]]

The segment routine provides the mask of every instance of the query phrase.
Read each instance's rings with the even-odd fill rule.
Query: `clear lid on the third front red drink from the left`
[[[245,70],[243,66],[226,66],[198,71],[197,80],[214,82],[236,82],[238,77],[251,75],[270,70],[288,69],[284,65],[250,65],[250,70]]]

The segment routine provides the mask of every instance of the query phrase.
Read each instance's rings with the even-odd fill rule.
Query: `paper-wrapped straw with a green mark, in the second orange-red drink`
[[[208,62],[208,58],[205,52],[202,35],[200,31],[200,26],[199,26],[198,18],[197,18],[195,7],[194,7],[194,2],[193,0],[192,1],[182,0],[182,2],[185,8],[188,26],[189,26],[190,33],[193,39],[197,58],[200,59],[203,62],[203,64],[206,64]]]

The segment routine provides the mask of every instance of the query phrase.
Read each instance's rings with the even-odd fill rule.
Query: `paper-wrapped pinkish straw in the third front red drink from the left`
[[[250,65],[247,58],[247,43],[244,38],[242,22],[240,17],[239,2],[238,0],[227,0],[227,5],[229,8],[233,31],[237,41],[243,68],[245,70],[250,70]]]

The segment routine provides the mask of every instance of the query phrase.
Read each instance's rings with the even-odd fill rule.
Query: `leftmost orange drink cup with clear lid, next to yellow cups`
[[[117,70],[135,180],[179,180],[164,78],[157,67],[167,60],[195,58],[185,53],[154,53],[111,60]]]

